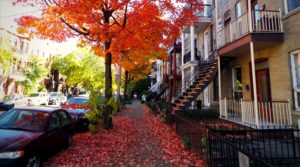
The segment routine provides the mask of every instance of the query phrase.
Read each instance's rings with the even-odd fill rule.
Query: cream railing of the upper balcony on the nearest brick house
[[[234,21],[225,25],[217,32],[218,48],[231,43],[250,33],[248,12],[244,13]],[[275,10],[253,10],[252,11],[253,33],[278,33],[283,32],[281,23],[281,12]]]

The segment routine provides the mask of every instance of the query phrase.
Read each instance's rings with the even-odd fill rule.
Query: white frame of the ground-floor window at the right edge
[[[292,72],[292,92],[293,92],[293,98],[294,98],[294,107],[297,111],[300,111],[300,106],[298,104],[298,97],[297,93],[300,93],[300,88],[297,88],[297,76],[296,76],[296,71],[295,71],[295,55],[298,55],[300,58],[300,49],[295,50],[293,52],[290,52],[290,60],[291,60],[291,72]]]

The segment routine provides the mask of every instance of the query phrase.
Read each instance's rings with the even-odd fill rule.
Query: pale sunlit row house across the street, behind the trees
[[[7,78],[3,77],[3,63],[0,62],[0,99],[5,95],[24,94],[22,82],[25,80],[24,69],[28,66],[29,58],[39,56],[46,68],[51,68],[51,57],[58,52],[54,44],[48,41],[31,40],[26,36],[0,28],[1,49],[13,51],[13,60]],[[49,90],[54,90],[61,84],[57,71],[51,71],[42,83]]]

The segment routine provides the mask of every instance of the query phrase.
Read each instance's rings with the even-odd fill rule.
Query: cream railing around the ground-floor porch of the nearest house
[[[254,102],[224,98],[221,100],[221,116],[235,122],[256,125]],[[259,125],[292,124],[289,101],[258,102]]]

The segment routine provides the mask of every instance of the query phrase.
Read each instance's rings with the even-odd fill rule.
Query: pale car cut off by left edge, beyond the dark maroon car
[[[0,102],[0,111],[8,111],[14,107],[27,106],[27,98],[23,95],[5,96],[3,102]]]

